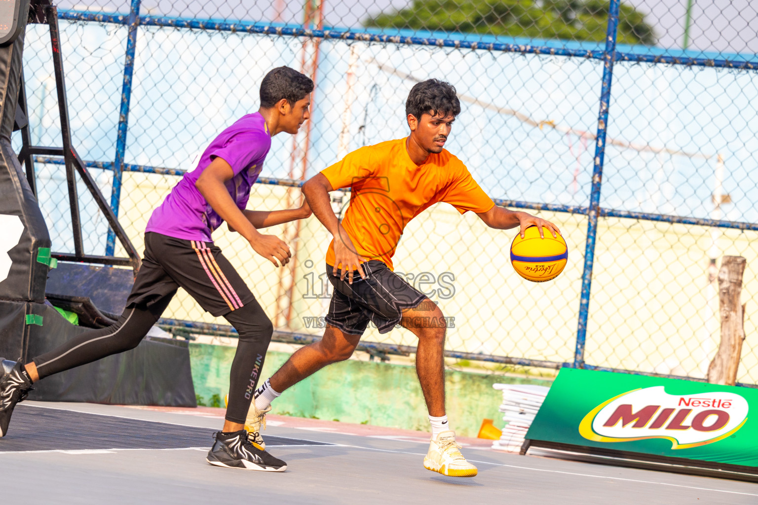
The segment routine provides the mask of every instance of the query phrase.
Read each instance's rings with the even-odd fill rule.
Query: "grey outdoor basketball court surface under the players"
[[[758,503],[749,482],[506,454],[472,439],[464,454],[479,475],[454,479],[421,466],[423,433],[279,416],[265,438],[287,472],[218,468],[205,462],[221,424],[210,411],[24,402],[0,439],[3,501]]]

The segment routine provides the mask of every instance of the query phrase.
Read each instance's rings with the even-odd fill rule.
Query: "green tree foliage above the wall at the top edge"
[[[602,42],[608,23],[607,0],[414,0],[409,8],[365,20],[365,26],[409,28],[531,39]],[[653,27],[644,14],[622,4],[620,44],[653,45]]]

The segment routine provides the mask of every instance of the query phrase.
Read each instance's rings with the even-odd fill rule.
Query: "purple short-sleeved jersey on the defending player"
[[[234,176],[226,182],[227,190],[236,206],[243,210],[270,148],[271,136],[263,116],[257,112],[243,116],[208,145],[197,168],[185,173],[161,206],[153,210],[145,231],[212,242],[211,233],[224,220],[205,201],[195,182],[215,157],[221,157],[234,171]]]

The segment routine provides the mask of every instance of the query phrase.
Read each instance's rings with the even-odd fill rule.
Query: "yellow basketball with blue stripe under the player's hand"
[[[511,243],[511,264],[513,270],[532,282],[555,279],[563,271],[568,260],[568,247],[561,235],[543,227],[545,238],[540,238],[537,226],[524,230],[524,238],[516,235]]]

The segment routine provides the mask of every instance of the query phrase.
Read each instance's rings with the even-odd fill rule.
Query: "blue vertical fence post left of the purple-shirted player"
[[[121,201],[121,174],[124,173],[124,153],[127,151],[127,126],[129,122],[129,102],[132,98],[132,74],[134,72],[134,52],[136,51],[137,26],[139,26],[139,4],[141,0],[132,0],[127,26],[127,58],[124,61],[124,83],[121,86],[121,111],[118,114],[118,136],[116,138],[116,159],[113,167],[113,189],[111,191],[111,209],[118,217],[118,204]],[[105,256],[113,256],[116,248],[116,235],[108,229],[105,242]]]

